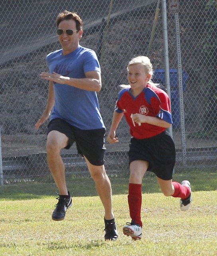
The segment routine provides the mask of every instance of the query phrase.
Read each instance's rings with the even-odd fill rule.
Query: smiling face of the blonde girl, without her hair
[[[128,66],[127,80],[133,90],[144,89],[150,80],[151,75],[147,74],[142,64]]]

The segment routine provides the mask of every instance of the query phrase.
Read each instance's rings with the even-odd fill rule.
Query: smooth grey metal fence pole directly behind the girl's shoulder
[[[163,27],[163,38],[164,38],[165,86],[166,86],[167,94],[169,95],[171,100],[166,0],[162,0],[161,6],[162,6],[162,27]],[[172,126],[168,128],[168,132],[170,133],[170,136],[173,138]]]

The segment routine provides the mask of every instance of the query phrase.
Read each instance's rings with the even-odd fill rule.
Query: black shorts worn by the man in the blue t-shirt
[[[104,164],[105,128],[81,130],[60,118],[51,120],[47,128],[47,134],[56,130],[69,138],[66,149],[69,149],[75,142],[78,153],[85,156],[91,164],[96,166]]]

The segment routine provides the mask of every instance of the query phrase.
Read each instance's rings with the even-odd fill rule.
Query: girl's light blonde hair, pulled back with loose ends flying
[[[153,84],[155,86],[158,86],[158,84],[154,84],[152,82],[152,76],[153,76],[153,67],[152,67],[152,63],[150,61],[150,59],[147,57],[147,56],[137,56],[135,58],[132,58],[132,60],[130,60],[128,62],[128,65],[127,65],[127,71],[128,71],[128,68],[130,65],[134,65],[134,64],[142,64],[144,66],[144,69],[145,69],[145,72],[147,74],[150,74],[151,77],[150,77],[150,80],[148,81],[150,84]],[[121,84],[120,85],[121,88],[130,88],[130,85],[125,85],[125,84]]]

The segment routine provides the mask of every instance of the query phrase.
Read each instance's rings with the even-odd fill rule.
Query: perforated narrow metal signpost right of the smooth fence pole
[[[180,93],[180,125],[181,125],[182,159],[183,159],[183,166],[186,166],[185,115],[184,115],[184,104],[183,104],[183,84],[182,84],[182,67],[181,67],[179,14],[178,14],[178,12],[176,12],[174,15],[175,15],[175,22],[176,22],[176,46],[177,46],[178,81],[179,81],[179,93]]]

